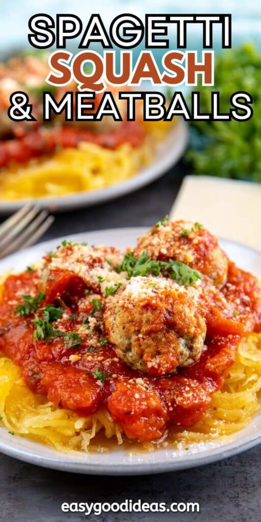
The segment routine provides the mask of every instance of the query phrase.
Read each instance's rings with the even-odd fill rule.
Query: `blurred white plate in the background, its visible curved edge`
[[[153,162],[128,180],[97,191],[79,192],[61,197],[34,198],[33,201],[40,207],[50,208],[52,212],[55,212],[88,207],[133,192],[156,180],[177,163],[186,148],[187,137],[186,122],[182,117],[177,118],[166,139],[159,144]],[[0,214],[14,212],[25,205],[27,201],[28,199],[12,201],[0,199]]]

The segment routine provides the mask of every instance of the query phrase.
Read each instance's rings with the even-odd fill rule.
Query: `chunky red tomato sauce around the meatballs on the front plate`
[[[96,331],[101,343],[94,350],[88,337],[71,348],[64,337],[35,340],[35,312],[20,317],[15,311],[23,294],[37,295],[42,290],[40,272],[25,271],[6,279],[0,303],[0,350],[21,367],[33,392],[45,395],[57,407],[86,416],[105,408],[129,438],[139,441],[156,440],[169,426],[190,426],[203,416],[211,395],[224,383],[241,338],[257,328],[260,318],[256,278],[230,264],[222,293],[235,303],[239,319],[224,317],[224,311],[213,303],[199,362],[175,375],[151,376],[132,370],[112,346],[102,343],[102,322]],[[85,283],[68,270],[52,276],[39,306],[62,300],[65,317],[59,328],[74,332],[92,310]],[[102,321],[102,312],[96,317]]]

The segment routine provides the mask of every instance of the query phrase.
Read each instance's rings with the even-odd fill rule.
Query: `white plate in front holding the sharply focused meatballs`
[[[87,232],[68,236],[75,242],[88,241],[89,244],[115,245],[120,248],[135,244],[137,236],[145,229],[111,229],[98,232]],[[46,241],[28,248],[22,253],[13,254],[0,262],[0,271],[14,268],[19,271],[31,265],[46,252],[53,250],[60,239]],[[220,241],[231,259],[242,268],[254,274],[260,273],[261,253],[239,243],[227,240]],[[65,455],[41,444],[25,438],[10,435],[3,426],[0,428],[0,450],[6,455],[53,469],[64,471],[131,475],[142,473],[159,473],[163,471],[192,468],[214,462],[240,453],[261,442],[261,413],[244,430],[230,436],[226,442],[208,442],[191,444],[188,450],[159,449],[154,453],[127,454],[118,447],[108,454]]]

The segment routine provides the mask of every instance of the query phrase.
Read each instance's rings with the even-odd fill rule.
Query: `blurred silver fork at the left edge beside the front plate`
[[[35,243],[53,221],[48,210],[41,210],[32,203],[22,207],[0,225],[0,259]]]

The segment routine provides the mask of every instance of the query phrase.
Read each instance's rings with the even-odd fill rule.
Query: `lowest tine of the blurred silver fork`
[[[4,248],[4,250],[0,251],[0,258],[5,257],[11,252],[22,250],[22,248],[26,248],[27,246],[37,241],[37,239],[41,237],[45,230],[50,227],[54,220],[53,216],[49,216],[49,218],[45,219],[46,216],[48,216],[48,212],[43,210],[39,216],[31,222],[25,231],[15,238],[14,241],[11,241],[11,243],[9,243]]]

